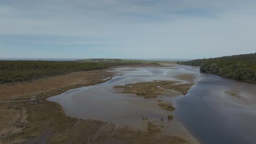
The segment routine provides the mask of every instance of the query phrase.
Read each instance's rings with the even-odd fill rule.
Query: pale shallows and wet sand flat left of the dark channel
[[[162,88],[165,87],[164,85],[161,88],[154,85],[155,88],[162,89],[161,93],[154,93],[156,97],[146,99],[135,93],[121,93],[123,88],[114,88],[138,82],[149,82],[151,85],[154,81],[175,81],[172,85],[186,85],[195,82],[199,77],[196,71],[185,71],[173,67],[144,67],[116,68],[112,72],[122,75],[98,85],[71,89],[48,100],[61,104],[66,115],[71,117],[97,119],[112,122],[118,127],[129,126],[134,130],[142,131],[146,131],[148,122],[152,122],[162,125],[161,130],[168,135],[198,143],[175,118],[173,121],[169,120],[168,115],[173,115],[173,111],[159,106],[161,103],[172,103],[179,95],[183,95],[184,92],[181,89],[177,91],[174,88],[174,90]],[[136,86],[136,84],[131,85]]]

